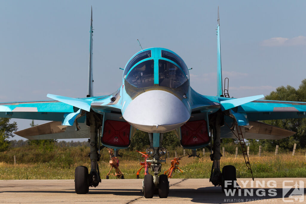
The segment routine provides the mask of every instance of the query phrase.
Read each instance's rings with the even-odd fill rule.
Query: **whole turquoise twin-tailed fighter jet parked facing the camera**
[[[201,95],[190,87],[188,68],[171,50],[153,47],[134,54],[125,65],[122,85],[111,95],[93,96],[92,76],[92,10],[90,25],[89,86],[85,98],[69,98],[48,94],[49,101],[5,102],[0,104],[0,117],[51,121],[16,132],[27,139],[90,138],[91,169],[75,169],[75,191],[88,193],[89,186],[101,182],[98,161],[100,149],[128,148],[136,129],[147,132],[151,155],[151,174],[144,176],[146,198],[158,194],[166,198],[169,182],[160,174],[166,148],[161,147],[163,134],[175,131],[181,146],[211,150],[210,181],[225,186],[236,180],[234,166],[220,170],[221,138],[238,138],[245,163],[251,170],[244,139],[282,139],[294,132],[264,124],[262,120],[305,117],[305,102],[259,100],[263,95],[230,98],[223,91],[220,54],[219,17],[217,25],[217,96]],[[235,133],[236,131],[236,133]],[[251,170],[252,172],[252,170]],[[207,172],[208,173],[208,172]],[[233,182],[232,182],[233,183]]]

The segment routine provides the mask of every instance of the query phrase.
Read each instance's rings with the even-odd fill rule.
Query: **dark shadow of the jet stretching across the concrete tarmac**
[[[258,201],[258,200],[266,200],[262,202],[274,202],[273,200],[276,198],[283,197],[283,191],[285,191],[285,199],[291,199],[295,202],[298,200],[294,200],[294,198],[289,197],[291,193],[293,193],[294,188],[291,189],[283,189],[283,188],[237,188],[234,194],[226,195],[222,192],[221,187],[202,187],[198,189],[171,189],[169,191],[169,197],[174,198],[191,198],[191,202],[197,203],[232,203],[232,202],[250,202],[250,201]],[[12,193],[69,193],[74,194],[74,189],[60,189],[58,191],[37,191],[37,190],[21,190],[21,191],[0,191],[2,192],[12,192]],[[88,195],[90,194],[111,194],[117,196],[139,196],[142,197],[143,194],[140,189],[89,189]],[[304,189],[304,195],[306,195],[306,188]],[[158,195],[154,195],[153,198],[158,197]],[[279,200],[278,200],[279,201]]]

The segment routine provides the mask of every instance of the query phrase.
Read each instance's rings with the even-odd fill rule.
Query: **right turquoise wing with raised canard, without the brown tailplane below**
[[[306,102],[294,101],[272,101],[272,100],[252,100],[245,98],[224,98],[217,96],[200,95],[192,89],[192,112],[193,111],[217,111],[218,109],[229,110],[230,114],[244,115],[248,121],[264,121],[289,118],[306,117]],[[238,103],[237,103],[238,100]],[[239,101],[241,100],[241,101]],[[230,104],[231,106],[229,106]],[[226,105],[226,106],[225,106]],[[227,108],[227,106],[229,108]],[[226,107],[226,108],[224,108]]]

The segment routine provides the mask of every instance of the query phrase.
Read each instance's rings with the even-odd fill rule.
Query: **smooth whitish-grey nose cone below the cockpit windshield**
[[[190,118],[190,112],[173,94],[152,90],[134,98],[125,109],[123,118],[142,131],[161,133],[185,124]]]

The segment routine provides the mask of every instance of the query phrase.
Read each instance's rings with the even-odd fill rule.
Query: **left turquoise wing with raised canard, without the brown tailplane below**
[[[63,121],[69,113],[77,113],[79,109],[90,111],[92,108],[96,112],[121,112],[118,91],[114,95],[89,98],[69,98],[50,94],[48,97],[54,100],[0,103],[0,117]],[[115,100],[112,101],[112,98]]]

